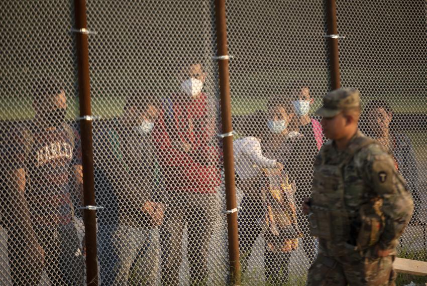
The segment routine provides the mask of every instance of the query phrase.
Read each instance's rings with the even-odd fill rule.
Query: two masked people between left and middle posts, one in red
[[[98,214],[103,284],[156,284],[153,228],[160,236],[161,283],[178,284],[185,227],[190,283],[207,282],[221,170],[205,77],[200,64],[185,66],[182,92],[161,99],[135,92],[111,126],[94,128],[96,198],[105,210]]]

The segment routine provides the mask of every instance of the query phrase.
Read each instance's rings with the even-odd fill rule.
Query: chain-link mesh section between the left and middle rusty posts
[[[224,283],[213,3],[87,12],[102,283]]]

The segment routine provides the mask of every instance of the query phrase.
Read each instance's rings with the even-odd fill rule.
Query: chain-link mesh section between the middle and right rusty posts
[[[316,255],[299,206],[324,140],[307,114],[328,90],[323,2],[231,1],[227,9],[243,281],[296,284]],[[263,173],[281,165],[287,178]],[[292,211],[275,205],[285,202]]]

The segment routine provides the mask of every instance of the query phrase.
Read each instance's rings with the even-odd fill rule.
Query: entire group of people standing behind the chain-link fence
[[[207,283],[222,162],[217,106],[202,91],[205,79],[200,63],[192,62],[180,69],[182,92],[158,98],[133,91],[118,118],[94,122],[101,284],[153,285],[158,271],[161,284],[179,284],[185,228],[189,282]],[[314,101],[309,88],[293,84],[288,94],[271,97],[265,111],[237,124],[242,271],[262,235],[265,278],[271,284],[288,279],[290,255],[298,247],[310,263],[316,256],[317,241],[300,211],[324,142],[321,124],[309,115]],[[37,285],[45,273],[55,285],[83,284],[85,249],[75,222],[83,206],[78,132],[65,120],[63,86],[42,82],[33,99],[34,119],[2,138],[0,201],[12,281]],[[368,103],[361,122],[394,155],[417,202],[414,152],[407,136],[390,130],[391,118],[388,104],[376,100]],[[152,241],[156,232],[160,258]]]

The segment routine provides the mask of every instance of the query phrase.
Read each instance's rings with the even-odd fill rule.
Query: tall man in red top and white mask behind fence
[[[206,257],[215,223],[220,185],[216,108],[202,92],[206,73],[199,63],[184,67],[179,75],[182,92],[162,100],[153,130],[166,204],[161,228],[162,284],[178,284],[182,261],[181,241],[188,231],[191,284],[207,277]]]

